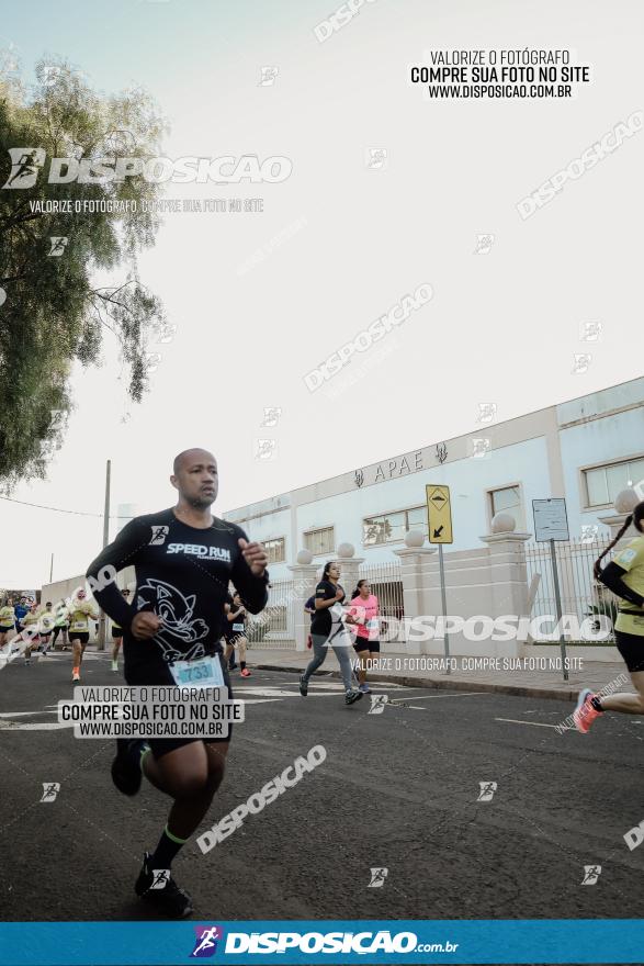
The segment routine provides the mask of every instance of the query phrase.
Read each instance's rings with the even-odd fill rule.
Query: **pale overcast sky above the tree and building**
[[[481,402],[508,419],[642,374],[644,133],[532,217],[517,211],[644,110],[641,4],[375,0],[319,43],[313,29],[334,9],[13,4],[0,37],[27,78],[48,52],[104,93],[145,86],[171,125],[171,158],[293,162],[282,183],[167,189],[263,198],[264,211],[166,216],[139,265],[177,326],[150,392],[127,405],[105,341],[101,368],[74,370],[76,411],[47,480],[16,499],[100,514],[111,459],[113,513],[160,509],[174,453],[203,446],[219,460],[224,512],[473,431]],[[573,99],[432,101],[408,80],[430,48],[527,46],[569,49],[591,82]],[[278,69],[273,83],[262,67]],[[365,162],[372,149],[386,151],[380,168]],[[477,254],[484,234],[494,243]],[[431,301],[309,392],[306,373],[422,283]],[[589,322],[600,341],[580,340]],[[581,352],[592,359],[574,373]],[[281,418],[262,428],[271,406]],[[272,458],[257,459],[267,438]],[[37,587],[52,552],[55,579],[84,570],[102,521],[0,502],[0,585]]]

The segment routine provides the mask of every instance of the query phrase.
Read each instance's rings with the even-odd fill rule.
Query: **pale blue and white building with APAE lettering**
[[[454,542],[484,546],[493,517],[510,513],[532,533],[532,501],[565,497],[570,538],[609,537],[602,515],[644,485],[644,378],[505,423],[482,416],[473,431],[224,514],[261,540],[271,577],[292,579],[300,550],[321,564],[351,543],[364,565],[397,561],[405,535],[427,535],[426,485],[450,487]],[[644,498],[644,491],[640,490]]]

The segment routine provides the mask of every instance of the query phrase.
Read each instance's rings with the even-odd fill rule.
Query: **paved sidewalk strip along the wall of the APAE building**
[[[249,648],[248,663],[251,667],[261,671],[286,671],[302,674],[304,667],[310,661],[310,651],[294,651],[275,649]],[[576,700],[583,687],[592,690],[601,690],[609,682],[615,682],[620,675],[623,679],[617,683],[611,690],[632,692],[633,687],[629,678],[625,665],[621,661],[614,663],[598,661],[579,661],[570,655],[572,663],[568,671],[568,681],[563,679],[561,667],[547,670],[550,659],[539,658],[539,670],[526,667],[524,662],[530,659],[509,659],[510,666],[504,667],[505,659],[487,659],[494,662],[487,669],[463,669],[466,662],[473,662],[474,658],[453,658],[452,666],[455,670],[450,674],[445,672],[444,662],[441,658],[413,656],[408,654],[381,654],[384,665],[379,671],[369,673],[369,681],[387,682],[399,684],[403,687],[437,687],[449,690],[468,692],[497,692],[500,694],[518,695],[531,698],[553,698],[555,700]],[[425,662],[425,663],[423,663]],[[420,664],[420,666],[415,666]],[[545,665],[541,670],[542,665]],[[520,666],[517,666],[520,665]],[[580,665],[580,666],[579,666]],[[321,673],[331,672],[334,677],[340,677],[338,662],[335,654],[327,658]]]

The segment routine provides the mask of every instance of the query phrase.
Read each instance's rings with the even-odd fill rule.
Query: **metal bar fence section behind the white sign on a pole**
[[[560,580],[562,613],[575,615],[579,624],[597,613],[594,608],[602,607],[609,611],[611,602],[614,600],[613,594],[603,584],[598,584],[592,575],[595,561],[610,542],[610,539],[555,541],[554,548]],[[612,555],[613,551],[610,551],[603,558],[602,566],[607,565]],[[541,575],[532,608],[532,617],[556,615],[550,543],[528,543],[526,546],[526,564],[529,585],[534,574]],[[556,617],[552,627],[544,629],[544,637],[549,630],[554,628],[555,624]],[[613,637],[611,636],[605,643],[610,644],[612,641]]]

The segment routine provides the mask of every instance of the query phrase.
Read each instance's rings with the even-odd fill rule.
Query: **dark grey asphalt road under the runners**
[[[572,706],[553,700],[383,685],[373,715],[328,677],[306,699],[293,674],[234,677],[250,703],[204,829],[312,746],[327,759],[207,855],[182,850],[173,874],[195,919],[644,917],[644,847],[623,839],[644,819],[642,719],[560,734]],[[149,920],[133,883],[168,801],[147,783],[116,791],[113,741],[52,728],[69,678],[68,653],[0,672],[0,914]],[[105,658],[86,660],[83,684],[114,683]],[[50,782],[60,791],[41,802]],[[595,885],[587,865],[601,865]],[[381,887],[372,868],[387,869]]]

